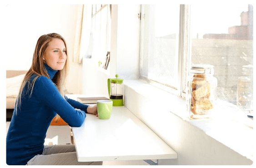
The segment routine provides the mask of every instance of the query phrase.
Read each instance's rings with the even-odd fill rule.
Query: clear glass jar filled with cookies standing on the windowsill
[[[191,119],[211,118],[216,106],[217,79],[212,65],[192,65],[187,80],[186,106]]]

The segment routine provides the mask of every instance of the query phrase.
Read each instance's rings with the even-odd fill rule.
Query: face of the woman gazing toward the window
[[[67,60],[65,43],[59,38],[53,38],[45,50],[43,59],[52,69],[62,70]]]

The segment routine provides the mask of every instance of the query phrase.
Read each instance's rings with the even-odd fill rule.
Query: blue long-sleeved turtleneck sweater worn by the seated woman
[[[50,79],[38,77],[31,97],[30,91],[26,93],[26,85],[21,107],[13,112],[6,137],[7,165],[25,165],[35,155],[43,153],[46,131],[56,113],[71,127],[79,127],[85,120],[88,106],[67,97],[64,99],[52,82],[58,71],[46,64],[45,68]],[[35,75],[30,80],[34,78]]]

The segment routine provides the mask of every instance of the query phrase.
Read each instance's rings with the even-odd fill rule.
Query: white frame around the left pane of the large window
[[[145,17],[144,14],[144,7],[145,5],[141,5],[141,17]],[[179,97],[185,98],[186,92],[184,84],[186,83],[186,76],[188,75],[188,66],[190,65],[191,60],[191,39],[190,39],[190,5],[189,4],[180,4],[180,22],[179,22],[179,45],[178,45],[178,85],[177,88],[174,86],[166,85],[151,79],[148,79],[147,77],[144,77],[141,75],[141,56],[142,56],[142,49],[140,47],[140,56],[139,56],[139,79],[142,81],[146,81],[147,83],[150,83],[153,86],[159,87],[165,91],[168,91],[170,93],[176,94]],[[143,24],[141,24],[141,32]],[[141,43],[142,46],[143,43],[143,34],[140,34]],[[187,41],[187,43],[185,43]],[[186,60],[186,61],[185,61]]]

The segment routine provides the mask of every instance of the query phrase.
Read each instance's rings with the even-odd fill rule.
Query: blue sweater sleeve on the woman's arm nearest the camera
[[[85,120],[85,111],[75,110],[61,95],[54,83],[47,77],[38,77],[35,81],[33,93],[71,127],[80,127]]]

